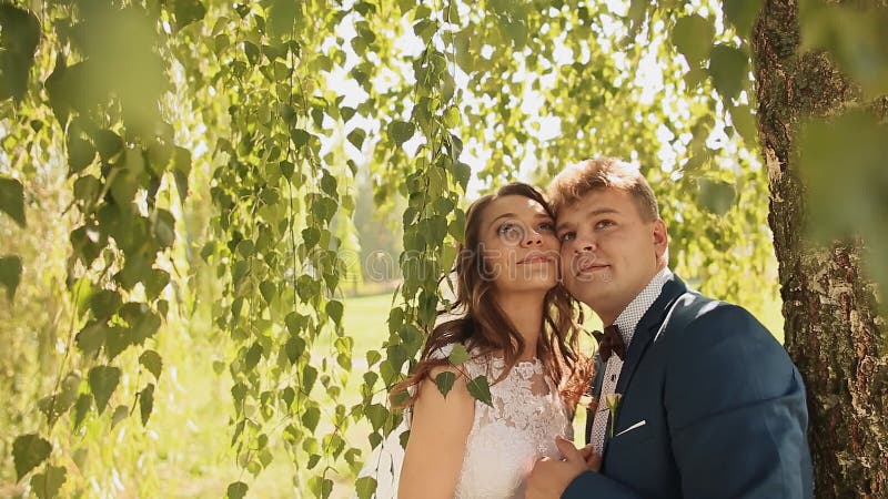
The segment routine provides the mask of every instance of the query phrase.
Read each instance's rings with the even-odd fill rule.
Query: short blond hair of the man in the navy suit
[[[558,173],[548,186],[552,210],[557,215],[592,191],[616,189],[629,193],[645,222],[659,218],[654,191],[642,172],[618,157],[596,157],[572,164]]]

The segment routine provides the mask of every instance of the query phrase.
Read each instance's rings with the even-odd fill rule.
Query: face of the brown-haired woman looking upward
[[[536,201],[507,195],[484,211],[480,227],[482,275],[500,293],[547,292],[558,282],[555,222]]]

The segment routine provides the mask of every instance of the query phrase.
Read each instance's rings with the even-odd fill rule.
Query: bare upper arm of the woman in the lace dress
[[[426,379],[418,387],[397,489],[401,499],[451,499],[456,490],[475,418],[475,399],[468,394],[465,377],[454,368],[432,369],[432,379],[445,370],[456,375],[446,398],[433,380]]]

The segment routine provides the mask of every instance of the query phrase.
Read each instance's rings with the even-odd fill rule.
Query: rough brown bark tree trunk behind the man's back
[[[809,221],[796,149],[803,119],[840,114],[860,104],[860,93],[826,54],[800,52],[795,0],[766,0],[753,52],[786,347],[808,390],[815,496],[888,498],[885,317],[876,286],[861,275],[859,242],[825,247],[805,238]],[[885,119],[886,102],[864,104]]]

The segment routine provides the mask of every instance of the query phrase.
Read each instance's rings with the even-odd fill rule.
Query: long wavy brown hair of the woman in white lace
[[[495,194],[485,195],[472,203],[466,212],[464,242],[458,247],[452,271],[456,274],[456,299],[447,308],[438,310],[438,315],[460,314],[460,317],[432,329],[420,361],[407,379],[392,389],[390,397],[395,407],[411,406],[418,396],[418,385],[424,379],[431,379],[432,369],[450,365],[446,356],[441,358],[440,354],[447,345],[464,344],[473,355],[478,356],[502,353],[505,367],[494,383],[502,380],[517,363],[517,357],[524,349],[524,339],[492,293],[494,283],[484,262],[480,228],[487,206],[500,197],[512,195],[539,203],[555,218],[543,194],[532,185],[518,182],[507,184]],[[558,384],[562,396],[572,410],[591,377],[591,361],[578,353],[577,343],[582,328],[577,320],[582,320],[582,309],[558,283],[544,298],[536,355]],[[414,386],[417,390],[404,400],[407,388]]]

